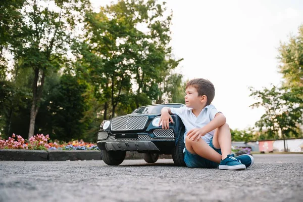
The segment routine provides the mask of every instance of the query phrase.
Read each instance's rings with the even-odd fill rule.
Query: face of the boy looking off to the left
[[[196,88],[189,86],[185,90],[185,104],[190,108],[199,108],[201,104],[207,102],[206,96],[198,96],[198,91]]]

